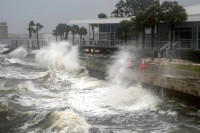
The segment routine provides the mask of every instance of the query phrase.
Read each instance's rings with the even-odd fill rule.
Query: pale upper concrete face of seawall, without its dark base
[[[86,68],[95,71],[96,73],[107,73],[109,64],[101,62],[80,59],[80,62]],[[96,74],[95,73],[95,74]],[[187,77],[176,77],[169,75],[162,75],[157,73],[143,72],[137,69],[128,69],[125,76],[130,80],[138,81],[140,83],[173,90],[190,96],[200,98],[200,80]]]

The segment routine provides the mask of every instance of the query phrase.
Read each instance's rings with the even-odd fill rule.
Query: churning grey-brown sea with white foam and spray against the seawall
[[[77,53],[59,43],[0,55],[0,132],[200,132],[200,110],[121,78],[126,54],[104,81],[88,76]]]

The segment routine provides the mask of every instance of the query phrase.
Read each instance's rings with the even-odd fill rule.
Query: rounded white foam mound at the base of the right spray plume
[[[112,92],[111,92],[112,91]],[[112,88],[107,96],[107,104],[126,110],[154,109],[159,99],[141,85],[129,88]]]

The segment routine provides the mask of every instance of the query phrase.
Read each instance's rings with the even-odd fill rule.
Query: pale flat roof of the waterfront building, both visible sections
[[[186,9],[188,19],[187,22],[200,21],[200,5],[184,7]],[[70,24],[114,24],[120,23],[122,20],[130,20],[130,18],[104,18],[104,19],[89,19],[89,20],[70,20]]]

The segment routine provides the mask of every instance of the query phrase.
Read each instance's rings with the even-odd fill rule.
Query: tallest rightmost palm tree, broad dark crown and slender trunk
[[[165,1],[161,5],[163,9],[163,20],[170,24],[170,58],[172,60],[172,45],[174,40],[174,27],[187,19],[185,9],[177,2]]]

